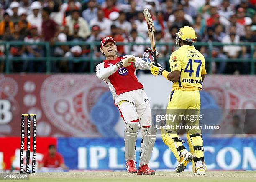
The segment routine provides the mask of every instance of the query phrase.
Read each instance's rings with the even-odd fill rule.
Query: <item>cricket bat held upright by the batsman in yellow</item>
[[[148,35],[150,38],[151,48],[153,51],[154,63],[157,65],[154,23],[153,23],[151,15],[148,11],[148,8],[145,8],[143,13],[144,13],[144,16],[145,16],[145,19],[147,22],[147,26],[148,26]]]

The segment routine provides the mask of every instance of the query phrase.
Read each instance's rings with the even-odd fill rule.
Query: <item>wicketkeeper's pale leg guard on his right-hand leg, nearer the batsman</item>
[[[148,164],[152,150],[156,141],[156,126],[153,125],[148,128],[141,127],[141,158],[140,166]]]

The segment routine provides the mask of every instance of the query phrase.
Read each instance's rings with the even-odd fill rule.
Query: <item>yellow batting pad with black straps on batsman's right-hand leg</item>
[[[194,160],[192,161],[193,172],[195,172],[195,165],[196,165],[196,162],[199,160],[203,162],[203,166],[206,171],[202,135],[199,133],[196,133],[196,134],[187,133],[187,143],[189,145],[190,152],[194,156]]]

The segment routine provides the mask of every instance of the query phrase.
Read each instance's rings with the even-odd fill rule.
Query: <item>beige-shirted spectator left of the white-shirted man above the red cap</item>
[[[83,39],[86,39],[90,34],[89,25],[86,20],[80,17],[80,13],[78,10],[74,10],[71,15],[66,17],[66,24],[69,27],[69,35],[74,34],[74,25],[79,25],[78,35]]]

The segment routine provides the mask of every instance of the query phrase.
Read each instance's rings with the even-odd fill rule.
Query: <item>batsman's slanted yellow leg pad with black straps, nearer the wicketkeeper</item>
[[[161,134],[164,144],[172,150],[172,153],[179,161],[182,150],[186,150],[182,144],[184,141],[180,140],[179,135],[176,132],[166,132],[166,130],[161,129]]]

